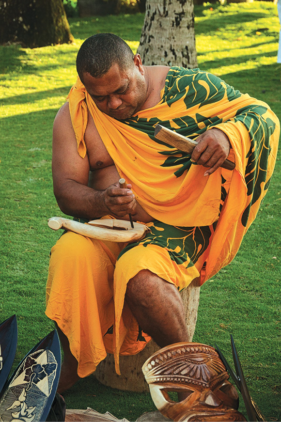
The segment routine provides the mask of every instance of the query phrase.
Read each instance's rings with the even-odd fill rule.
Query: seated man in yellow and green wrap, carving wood
[[[234,258],[265,195],[280,126],[270,108],[199,69],[143,66],[114,34],[88,38],[53,132],[54,193],[78,219],[146,223],[135,243],[66,233],[51,250],[46,314],[64,351],[59,391],[107,352],[189,341],[180,291]],[[198,141],[192,155],[154,137]],[[229,157],[235,170],[223,169]],[[89,177],[90,174],[90,177]],[[119,188],[125,178],[127,189]]]

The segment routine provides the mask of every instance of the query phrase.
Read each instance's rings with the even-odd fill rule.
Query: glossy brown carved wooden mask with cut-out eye
[[[237,391],[211,346],[172,344],[147,359],[142,371],[156,407],[173,421],[246,421],[237,410]],[[184,399],[173,401],[169,391]]]

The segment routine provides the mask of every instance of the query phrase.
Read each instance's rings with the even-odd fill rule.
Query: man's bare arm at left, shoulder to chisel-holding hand
[[[105,215],[121,218],[136,208],[134,195],[118,182],[105,190],[89,188],[88,156],[81,158],[71,123],[69,106],[59,110],[53,127],[52,173],[54,194],[62,212],[74,217],[96,219]]]

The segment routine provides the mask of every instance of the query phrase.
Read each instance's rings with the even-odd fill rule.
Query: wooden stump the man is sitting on
[[[186,311],[186,322],[189,334],[189,341],[192,341],[197,321],[197,311],[199,305],[200,282],[199,279],[193,280],[189,286],[181,293]],[[160,347],[151,341],[147,346],[136,355],[120,356],[120,372],[115,372],[114,357],[108,354],[106,359],[102,360],[97,366],[94,375],[101,383],[111,388],[126,391],[149,391],[147,382],[142,374],[141,367],[143,363]]]

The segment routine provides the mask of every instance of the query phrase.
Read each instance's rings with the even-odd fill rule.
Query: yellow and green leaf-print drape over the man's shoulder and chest
[[[68,101],[78,154],[86,156],[89,109],[120,177],[132,184],[145,211],[178,227],[217,221],[201,282],[229,264],[255,219],[274,169],[280,124],[272,110],[214,75],[177,66],[167,75],[160,102],[123,121],[97,109],[79,78]],[[193,165],[189,154],[154,137],[156,124],[194,140],[219,128],[231,142],[229,159],[235,160],[235,170],[219,168],[204,177],[205,168]]]

